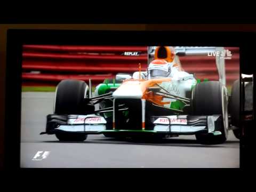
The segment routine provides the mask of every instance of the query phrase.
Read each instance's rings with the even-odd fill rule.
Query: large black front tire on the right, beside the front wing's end
[[[223,104],[222,104],[223,101]],[[222,109],[223,105],[223,109]],[[227,90],[218,81],[198,83],[192,93],[193,115],[222,115],[219,130],[221,135],[196,133],[196,139],[203,145],[217,145],[228,138],[228,96]]]

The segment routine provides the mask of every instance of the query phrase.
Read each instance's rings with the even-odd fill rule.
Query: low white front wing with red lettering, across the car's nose
[[[220,115],[211,116],[151,116],[153,127],[145,130],[106,129],[107,121],[99,115],[47,115],[46,132],[81,132],[86,134],[102,134],[107,132],[161,133],[161,134],[195,134],[197,132],[221,134],[222,119]]]

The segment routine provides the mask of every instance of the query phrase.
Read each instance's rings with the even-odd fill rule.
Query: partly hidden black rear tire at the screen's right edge
[[[240,117],[240,81],[237,79],[231,89],[231,97],[229,102],[229,111],[231,116],[231,125],[238,127],[233,130],[233,133],[237,139],[241,138],[241,129],[239,129],[239,117]]]

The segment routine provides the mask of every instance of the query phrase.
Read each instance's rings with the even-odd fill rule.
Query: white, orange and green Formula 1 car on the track
[[[176,47],[175,51],[176,55],[205,55],[223,47]],[[231,122],[228,108],[233,104],[228,103],[224,58],[216,56],[216,64],[219,81],[199,82],[182,70],[171,77],[155,77],[149,66],[148,71],[138,72],[138,78],[117,74],[111,82],[106,79],[96,87],[94,97],[91,81],[88,86],[63,80],[55,92],[54,114],[47,115],[46,132],[41,134],[55,134],[60,141],[84,141],[88,134],[114,138],[195,134],[202,144],[223,143]],[[152,69],[158,66],[153,63]]]

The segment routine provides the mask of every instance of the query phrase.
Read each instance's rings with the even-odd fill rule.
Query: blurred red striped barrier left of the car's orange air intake
[[[138,51],[139,56],[124,55]],[[22,91],[52,91],[62,79],[80,79],[93,86],[117,73],[147,68],[147,46],[24,45]]]

